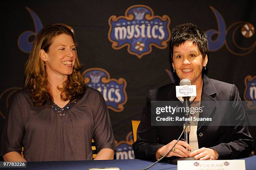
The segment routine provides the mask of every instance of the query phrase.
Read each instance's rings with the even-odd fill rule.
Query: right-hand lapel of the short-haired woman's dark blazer
[[[202,113],[199,114],[199,117],[210,117],[212,114],[212,111],[217,104],[217,101],[212,98],[212,95],[215,95],[216,89],[210,80],[206,75],[203,75],[203,87],[202,87],[202,97],[201,97],[201,107],[203,107]],[[209,102],[211,101],[211,102]],[[205,124],[205,122],[198,122],[197,130],[200,130],[200,128]]]

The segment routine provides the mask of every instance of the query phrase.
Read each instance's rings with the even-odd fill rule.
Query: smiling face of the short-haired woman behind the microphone
[[[173,47],[172,66],[180,80],[187,78],[192,85],[202,82],[202,67],[206,66],[208,58],[203,59],[197,45],[185,41],[178,47]]]

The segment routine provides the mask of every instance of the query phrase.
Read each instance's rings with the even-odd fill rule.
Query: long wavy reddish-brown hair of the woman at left
[[[52,44],[54,37],[67,34],[74,40],[74,35],[69,28],[63,25],[48,25],[44,27],[36,36],[31,53],[26,62],[25,68],[25,87],[30,88],[30,96],[35,106],[42,106],[46,100],[53,102],[53,97],[49,90],[47,82],[46,67],[44,61],[40,58],[40,50],[43,49],[46,53],[49,52],[49,47]],[[81,65],[76,58],[73,72],[68,75],[68,79],[63,83],[61,90],[61,100],[75,100],[82,97],[84,93],[84,80],[80,73]]]

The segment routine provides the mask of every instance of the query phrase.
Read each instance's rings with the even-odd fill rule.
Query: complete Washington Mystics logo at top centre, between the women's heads
[[[146,5],[133,5],[125,16],[110,16],[108,39],[112,47],[119,50],[126,45],[128,52],[141,58],[152,51],[152,46],[164,49],[171,38],[170,18],[167,15],[154,16]]]

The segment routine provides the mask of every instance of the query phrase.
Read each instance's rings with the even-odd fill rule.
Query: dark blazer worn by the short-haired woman
[[[151,126],[151,101],[177,101],[175,82],[163,87],[149,90],[146,104],[143,107],[141,122],[137,130],[137,141],[133,151],[137,159],[155,160],[157,150],[172,140],[177,140],[183,130],[182,126]],[[219,159],[236,159],[251,153],[252,137],[248,132],[246,111],[241,104],[238,89],[235,85],[213,80],[203,76],[201,105],[203,101],[212,101],[199,117],[212,117],[214,122],[227,122],[232,119],[236,126],[197,126],[199,148],[212,148],[219,154]],[[235,108],[229,113],[228,107],[217,107],[218,101],[231,101]],[[225,114],[224,114],[225,113]],[[220,125],[220,124],[219,124]]]

